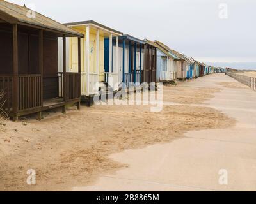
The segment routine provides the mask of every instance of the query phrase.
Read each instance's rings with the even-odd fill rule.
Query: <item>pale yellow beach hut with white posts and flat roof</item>
[[[81,46],[81,99],[91,104],[93,96],[99,94],[99,89],[105,87],[105,83],[111,81],[111,84],[118,84],[120,81],[119,51],[118,47],[115,52],[113,50],[113,38],[118,41],[118,37],[123,34],[93,20],[70,22],[64,25],[84,35],[79,45]],[[77,41],[74,38],[68,38],[67,44],[68,68],[70,71],[76,71]],[[113,62],[116,62],[115,66]]]

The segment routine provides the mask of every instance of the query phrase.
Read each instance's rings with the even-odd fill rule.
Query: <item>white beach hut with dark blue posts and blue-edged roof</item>
[[[124,82],[126,87],[131,84],[141,84],[143,82],[144,71],[144,46],[145,41],[135,38],[129,34],[113,38],[113,60],[112,72],[118,73],[118,83],[114,84],[114,91],[118,89],[118,85]],[[109,59],[109,38],[105,38],[105,61]],[[109,63],[105,63],[105,73],[109,72]],[[108,80],[108,79],[105,79]],[[108,82],[108,81],[107,81]]]

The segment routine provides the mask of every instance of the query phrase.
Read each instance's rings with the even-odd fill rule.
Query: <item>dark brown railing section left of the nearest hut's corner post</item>
[[[13,96],[13,76],[12,75],[0,75],[0,91],[3,92],[3,96],[0,99],[1,107],[5,112],[12,111],[12,96]]]

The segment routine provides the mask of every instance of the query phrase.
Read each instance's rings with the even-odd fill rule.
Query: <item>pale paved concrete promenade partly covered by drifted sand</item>
[[[209,75],[190,85],[220,87],[236,82],[226,75]],[[239,83],[239,82],[236,82]],[[79,191],[235,191],[256,190],[256,92],[229,89],[207,101],[238,122],[227,129],[189,131],[172,143],[125,150],[111,157],[129,168],[100,177]],[[227,185],[219,183],[227,170]],[[223,171],[222,171],[223,173]]]

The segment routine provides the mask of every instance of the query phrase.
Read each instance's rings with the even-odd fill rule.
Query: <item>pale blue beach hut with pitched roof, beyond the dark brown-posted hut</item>
[[[157,46],[157,82],[168,82],[175,80],[174,57],[168,47],[160,41],[155,41]]]

